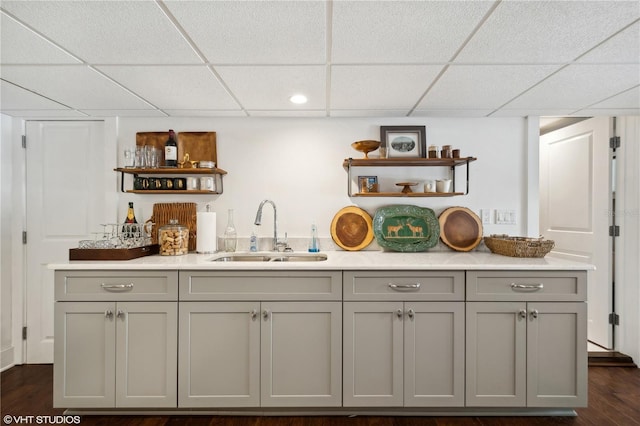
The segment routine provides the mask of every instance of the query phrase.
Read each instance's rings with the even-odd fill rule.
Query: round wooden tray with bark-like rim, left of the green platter
[[[331,238],[344,250],[362,250],[373,241],[373,222],[360,207],[348,206],[331,221]]]

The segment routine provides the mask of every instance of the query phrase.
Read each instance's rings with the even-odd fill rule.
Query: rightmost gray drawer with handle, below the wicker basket
[[[468,271],[467,300],[585,301],[585,271]]]

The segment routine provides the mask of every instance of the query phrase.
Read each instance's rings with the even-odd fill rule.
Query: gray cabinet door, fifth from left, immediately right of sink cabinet
[[[344,406],[402,407],[402,302],[344,302]]]

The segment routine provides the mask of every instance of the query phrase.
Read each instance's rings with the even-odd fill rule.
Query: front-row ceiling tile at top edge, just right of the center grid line
[[[331,61],[449,61],[491,1],[333,2]]]

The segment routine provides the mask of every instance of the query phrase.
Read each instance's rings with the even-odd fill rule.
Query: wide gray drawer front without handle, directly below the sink
[[[180,300],[342,300],[342,273],[180,271]]]

